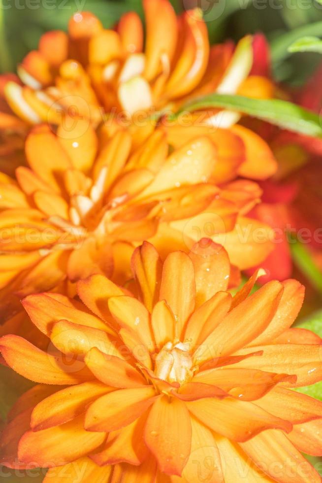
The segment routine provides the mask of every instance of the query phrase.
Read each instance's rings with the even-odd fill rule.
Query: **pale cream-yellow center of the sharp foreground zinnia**
[[[190,345],[167,342],[156,357],[155,374],[157,378],[168,382],[183,384],[193,377],[193,359],[189,352]]]

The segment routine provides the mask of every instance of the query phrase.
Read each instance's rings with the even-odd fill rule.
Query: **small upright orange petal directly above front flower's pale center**
[[[157,302],[152,311],[152,330],[156,345],[161,348],[167,342],[175,340],[176,320],[165,300]]]

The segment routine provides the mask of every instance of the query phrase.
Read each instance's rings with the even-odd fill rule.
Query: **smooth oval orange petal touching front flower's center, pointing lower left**
[[[155,401],[152,386],[120,389],[100,397],[88,408],[85,427],[90,431],[116,431],[141,416]]]

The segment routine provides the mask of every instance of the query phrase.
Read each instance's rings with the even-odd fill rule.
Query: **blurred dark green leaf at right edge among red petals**
[[[322,294],[322,273],[314,262],[306,244],[292,239],[290,251],[294,264],[307,277],[312,286]]]

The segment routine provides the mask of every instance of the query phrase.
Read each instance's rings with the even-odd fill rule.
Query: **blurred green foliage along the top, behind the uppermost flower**
[[[320,0],[171,0],[177,12],[192,6],[204,10],[212,43],[238,40],[263,32],[272,46],[274,74],[279,81],[299,85],[320,61],[316,53],[291,54],[290,45],[306,35],[322,35]],[[0,71],[13,71],[42,33],[66,30],[69,17],[90,10],[105,27],[128,10],[142,16],[141,0],[0,0]],[[166,35],[166,33],[165,33]]]

